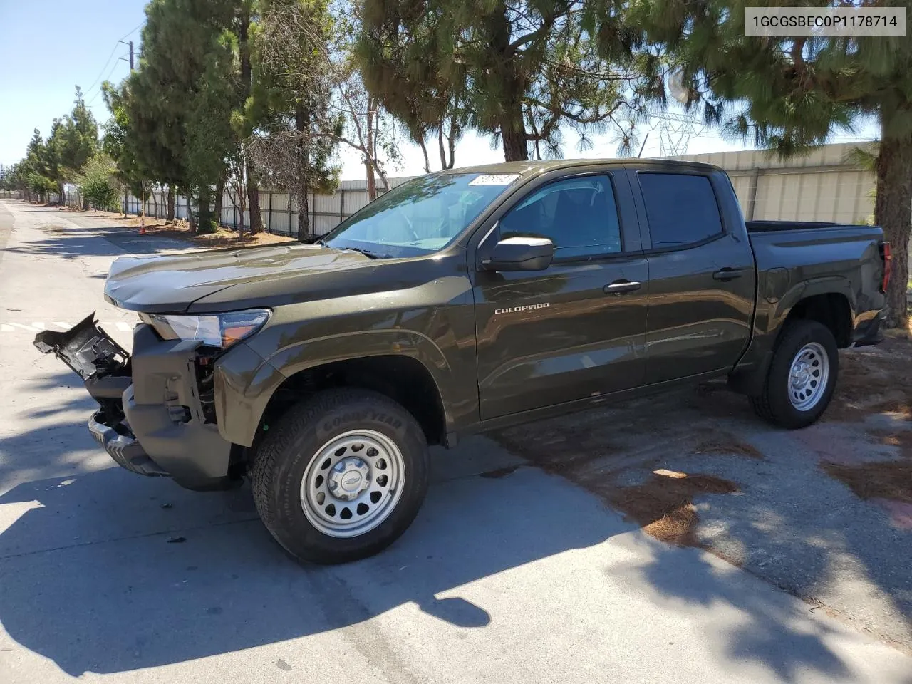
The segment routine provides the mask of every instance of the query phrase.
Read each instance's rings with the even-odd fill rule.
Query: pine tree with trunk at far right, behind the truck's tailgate
[[[907,326],[908,241],[912,223],[912,41],[908,37],[779,38],[744,35],[744,0],[588,3],[594,16],[625,17],[622,32],[600,31],[606,53],[666,50],[683,69],[691,103],[710,121],[781,155],[824,143],[876,117],[875,222],[893,246],[887,325]],[[798,2],[792,5],[821,6]],[[829,3],[844,6],[843,3]],[[862,0],[855,6],[882,6]],[[903,6],[907,16],[912,3]]]

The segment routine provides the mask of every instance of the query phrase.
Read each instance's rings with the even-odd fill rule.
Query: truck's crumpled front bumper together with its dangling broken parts
[[[202,408],[199,342],[162,340],[140,324],[129,355],[89,316],[66,333],[40,334],[36,347],[83,378],[100,405],[88,430],[119,466],[188,489],[231,486],[232,444]]]

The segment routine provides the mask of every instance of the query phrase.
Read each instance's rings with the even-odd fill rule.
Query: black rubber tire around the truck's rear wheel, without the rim
[[[829,359],[829,374],[824,393],[817,403],[810,409],[799,410],[789,399],[789,375],[793,359],[805,345],[811,342],[816,342],[824,347]],[[830,399],[833,399],[838,375],[839,352],[830,329],[816,321],[793,321],[782,331],[773,351],[772,362],[767,371],[762,392],[756,397],[751,397],[751,405],[758,416],[769,420],[773,425],[788,430],[805,428],[819,419],[829,406]]]

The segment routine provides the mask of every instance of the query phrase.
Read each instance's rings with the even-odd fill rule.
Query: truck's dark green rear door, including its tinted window
[[[699,167],[630,180],[649,263],[647,382],[731,368],[751,336],[756,290],[731,183]]]

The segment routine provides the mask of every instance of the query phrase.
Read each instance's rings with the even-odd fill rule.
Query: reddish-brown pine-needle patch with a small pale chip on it
[[[713,475],[658,470],[648,482],[606,492],[606,498],[643,531],[667,544],[699,546],[699,521],[693,499],[702,494],[731,494],[738,485]]]

